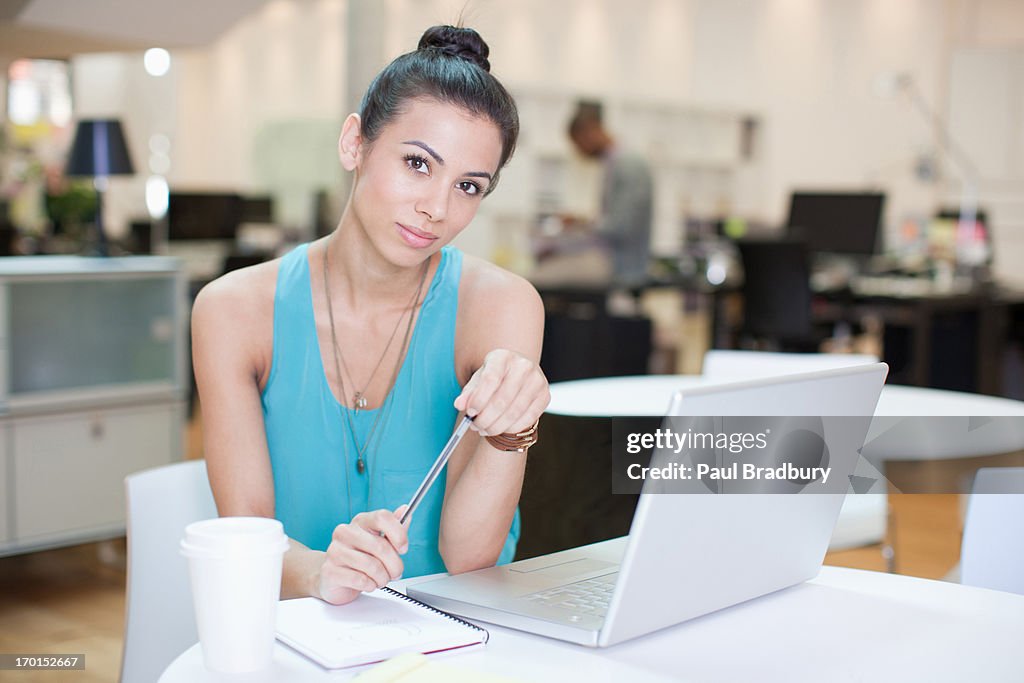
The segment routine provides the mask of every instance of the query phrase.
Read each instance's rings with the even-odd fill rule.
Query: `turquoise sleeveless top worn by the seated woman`
[[[462,252],[441,250],[441,260],[413,328],[409,350],[383,409],[352,411],[331,393],[313,319],[308,245],[282,260],[273,300],[273,355],[263,390],[263,420],[273,470],[275,515],[289,537],[327,550],[335,526],[359,512],[408,503],[444,446],[458,418],[462,391],[455,372],[455,325]],[[390,409],[387,403],[390,402]],[[355,469],[356,440],[380,410],[378,433]],[[347,457],[346,457],[347,445]],[[413,515],[403,577],[444,571],[437,549],[444,474]],[[516,510],[500,563],[509,562],[519,538]]]

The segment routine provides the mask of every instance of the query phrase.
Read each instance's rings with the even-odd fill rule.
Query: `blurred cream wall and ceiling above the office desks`
[[[312,237],[312,196],[340,197],[340,121],[383,63],[466,3],[12,4],[20,11],[0,48],[5,155],[33,136],[23,128],[49,128],[39,160],[59,170],[74,120],[115,116],[140,167],[112,183],[115,233],[159,213],[145,184],[162,176],[172,190],[270,195],[273,220]],[[996,270],[1019,278],[1021,11],[999,0],[471,2],[465,20],[520,99],[523,139],[463,246],[492,256],[502,219],[588,208],[586,183],[557,169],[579,163],[564,130],[573,99],[587,96],[666,171],[658,253],[680,247],[687,219],[780,225],[802,187],[884,189],[886,248],[898,248],[902,221],[955,204],[966,172],[945,154],[944,131],[894,88],[906,78],[970,154],[978,201],[1000,228]],[[151,47],[168,52],[147,58]],[[65,57],[65,75],[20,57]],[[40,227],[38,216],[19,219]]]

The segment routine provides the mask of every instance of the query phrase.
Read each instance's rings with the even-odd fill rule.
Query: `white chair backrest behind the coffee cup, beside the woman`
[[[128,589],[122,683],[155,682],[199,640],[188,566],[178,550],[184,527],[217,516],[206,462],[130,474]]]

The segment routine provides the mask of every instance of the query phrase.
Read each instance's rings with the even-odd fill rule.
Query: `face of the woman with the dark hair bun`
[[[344,159],[344,133],[342,146]],[[354,214],[389,261],[421,263],[476,215],[501,152],[490,120],[434,99],[412,100],[372,144],[358,147]]]

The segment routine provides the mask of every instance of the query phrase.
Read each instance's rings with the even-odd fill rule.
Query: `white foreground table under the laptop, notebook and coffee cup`
[[[666,582],[665,590],[686,589]],[[540,682],[1024,680],[1024,596],[839,567],[602,650],[487,629],[485,647],[451,655],[447,664]],[[348,676],[326,672],[279,643],[272,671],[222,678],[205,670],[195,645],[160,683],[315,683]]]

